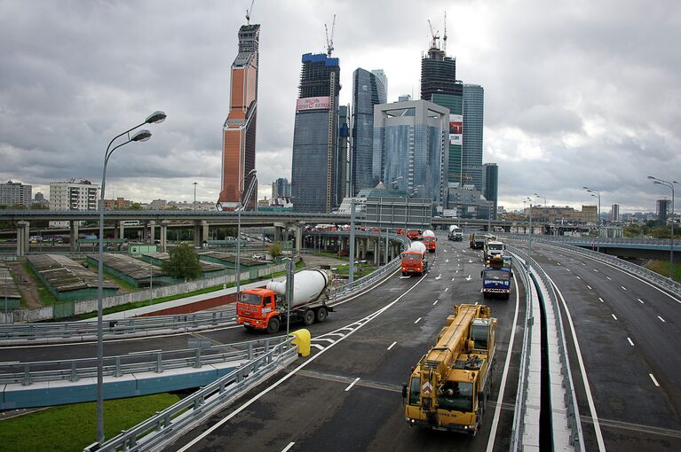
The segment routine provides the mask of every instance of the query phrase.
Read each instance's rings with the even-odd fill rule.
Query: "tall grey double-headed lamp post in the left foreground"
[[[97,282],[97,442],[102,444],[104,442],[104,334],[102,331],[102,295],[103,295],[103,274],[104,274],[104,191],[107,182],[107,164],[116,149],[133,141],[144,142],[151,138],[151,132],[142,129],[132,136],[131,131],[139,129],[145,124],[159,123],[165,121],[166,114],[163,112],[154,112],[146,117],[146,120],[141,124],[124,131],[122,134],[114,136],[107,146],[107,152],[104,153],[104,166],[102,168],[102,184],[99,193],[99,257],[98,257],[98,282]],[[127,136],[127,141],[116,145],[113,149],[111,145],[115,140],[121,136]]]

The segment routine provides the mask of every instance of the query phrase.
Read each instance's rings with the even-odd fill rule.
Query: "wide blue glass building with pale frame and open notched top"
[[[376,105],[376,180],[441,206],[447,190],[448,113],[424,100]]]

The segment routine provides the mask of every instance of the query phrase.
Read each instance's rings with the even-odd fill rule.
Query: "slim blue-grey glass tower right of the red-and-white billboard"
[[[482,125],[485,90],[480,85],[463,85],[463,148],[461,171],[464,183],[482,188]]]

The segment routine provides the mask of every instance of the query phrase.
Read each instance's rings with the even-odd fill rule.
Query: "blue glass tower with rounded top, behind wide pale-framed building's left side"
[[[352,195],[376,186],[372,178],[374,154],[374,105],[388,102],[387,78],[358,68],[352,73]]]

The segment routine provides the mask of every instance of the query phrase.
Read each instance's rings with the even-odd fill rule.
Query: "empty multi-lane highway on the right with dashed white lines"
[[[563,249],[533,257],[563,303],[587,449],[681,450],[681,300]]]

